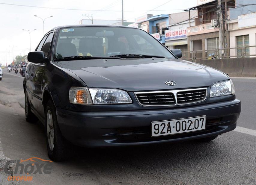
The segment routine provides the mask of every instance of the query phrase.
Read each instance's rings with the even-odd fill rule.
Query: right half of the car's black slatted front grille
[[[204,100],[206,89],[177,92],[178,104],[189,104]]]

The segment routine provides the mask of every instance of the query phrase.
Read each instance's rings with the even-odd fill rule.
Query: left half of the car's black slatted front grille
[[[173,93],[139,93],[136,94],[142,105],[175,105]]]

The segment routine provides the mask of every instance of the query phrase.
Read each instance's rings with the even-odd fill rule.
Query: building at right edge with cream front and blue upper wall
[[[236,0],[234,8],[229,9],[228,31],[230,37],[230,56],[255,57],[256,55],[256,5],[251,0]],[[243,6],[246,5],[246,6]],[[242,49],[244,51],[242,52]]]

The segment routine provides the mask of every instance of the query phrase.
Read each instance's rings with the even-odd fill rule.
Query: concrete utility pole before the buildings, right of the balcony
[[[222,9],[221,9],[221,0],[218,0],[218,11],[217,11],[217,15],[218,15],[218,20],[219,20],[219,55],[222,57],[222,54],[224,54],[224,50],[222,48],[225,48],[224,46],[224,39],[225,39],[225,35],[224,35],[224,24],[223,24],[223,17],[222,17]]]

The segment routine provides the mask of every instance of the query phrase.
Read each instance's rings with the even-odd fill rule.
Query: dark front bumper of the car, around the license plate
[[[63,136],[75,145],[86,147],[145,145],[223,134],[236,128],[240,112],[241,102],[237,99],[161,110],[76,112],[56,108]],[[202,115],[206,115],[203,131],[151,137],[153,121]]]

